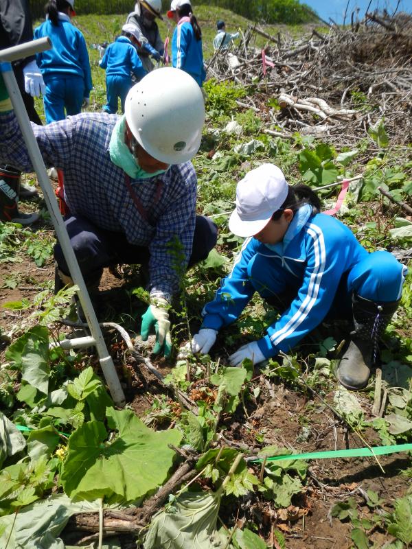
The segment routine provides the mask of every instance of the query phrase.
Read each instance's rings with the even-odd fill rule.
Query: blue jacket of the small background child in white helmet
[[[140,79],[146,74],[136,48],[127,36],[119,36],[113,44],[108,46],[100,61],[100,67],[106,69],[106,76],[117,75],[130,78],[130,73],[134,73]]]

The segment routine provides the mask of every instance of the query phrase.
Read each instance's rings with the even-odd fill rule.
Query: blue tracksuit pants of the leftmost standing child
[[[46,123],[64,120],[82,111],[84,80],[78,76],[47,78],[43,97]],[[66,113],[65,113],[66,109]]]

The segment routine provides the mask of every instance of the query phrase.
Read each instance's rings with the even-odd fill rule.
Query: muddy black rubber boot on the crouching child
[[[379,340],[399,301],[369,301],[353,294],[352,311],[355,329],[337,369],[339,383],[347,389],[363,389],[371,369],[379,360]]]

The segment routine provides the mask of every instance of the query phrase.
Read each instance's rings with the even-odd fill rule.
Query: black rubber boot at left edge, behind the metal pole
[[[38,220],[38,213],[19,211],[20,172],[0,167],[0,220],[30,225]]]

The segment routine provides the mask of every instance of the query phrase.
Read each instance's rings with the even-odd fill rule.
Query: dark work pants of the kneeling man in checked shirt
[[[117,264],[148,264],[148,247],[130,244],[124,233],[105,231],[88,220],[73,215],[65,220],[65,225],[86,285],[98,282],[104,267]],[[217,236],[216,224],[203,215],[196,215],[189,267],[207,258],[209,251],[216,245]],[[58,268],[69,274],[60,244],[54,246],[54,258]]]

